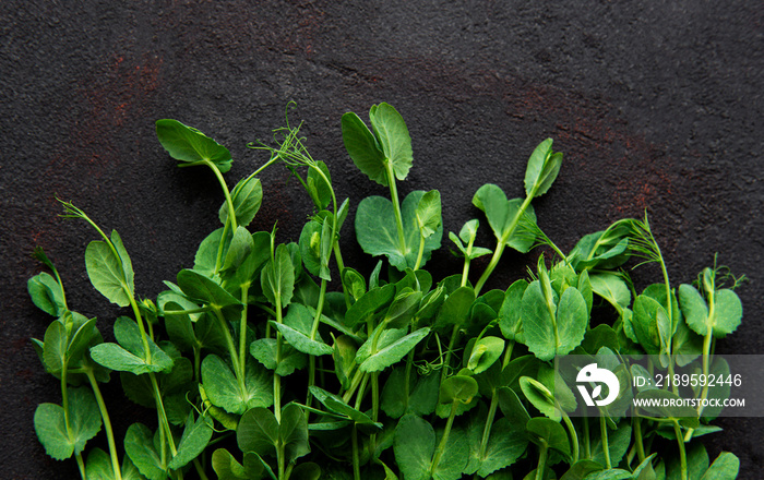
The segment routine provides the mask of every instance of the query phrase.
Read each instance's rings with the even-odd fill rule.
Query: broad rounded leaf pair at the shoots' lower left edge
[[[57,460],[70,458],[85,448],[85,443],[100,430],[102,421],[93,392],[87,387],[67,388],[69,429],[63,407],[40,404],[35,410],[35,432],[45,452]]]

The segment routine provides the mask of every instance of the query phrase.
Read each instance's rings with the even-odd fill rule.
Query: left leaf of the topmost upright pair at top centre
[[[343,115],[343,142],[353,163],[372,181],[387,187],[385,155],[374,134],[354,112]]]

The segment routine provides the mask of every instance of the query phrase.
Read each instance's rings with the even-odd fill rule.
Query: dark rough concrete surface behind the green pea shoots
[[[482,183],[522,195],[525,161],[551,136],[565,159],[535,202],[541,228],[569,250],[582,235],[647,209],[675,283],[691,281],[715,252],[748,275],[743,324],[719,351],[764,353],[764,8],[546,3],[3,1],[0,478],[77,476],[73,461],[46,457],[33,430],[35,406],[60,401],[29,343],[49,323],[26,296],[26,279],[39,271],[33,248],[58,265],[72,308],[98,316],[107,334],[119,313],[85,274],[93,231],[58,218],[55,195],[121,233],[144,297],[190,266],[216,228],[215,180],[175,167],[155,140],[158,118],[227,145],[232,185],[265,160],[247,143],[267,140],[295,100],[293,120],[306,121],[313,156],[355,206],[385,192],[353,167],[339,118],[348,110],[366,118],[370,105],[389,101],[414,139],[414,168],[399,189],[440,189],[446,231],[480,216],[469,201]],[[299,184],[279,168],[262,181],[252,227],[278,219],[280,239],[297,239],[309,213]],[[350,223],[343,233],[348,263],[369,271]],[[508,286],[537,254],[506,255],[492,285]],[[445,251],[433,262],[445,264],[442,275],[459,269]],[[636,273],[642,283],[657,275]],[[142,411],[117,382],[106,394],[121,439]],[[707,437],[711,454],[735,452],[740,478],[761,478],[764,421],[718,424],[725,431]]]

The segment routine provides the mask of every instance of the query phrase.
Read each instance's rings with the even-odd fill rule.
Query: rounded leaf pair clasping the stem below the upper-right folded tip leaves
[[[473,205],[486,214],[497,240],[521,253],[527,253],[536,236],[524,227],[521,217],[527,215],[529,220],[536,223],[536,214],[532,205],[527,206],[525,213],[521,212],[522,204],[520,199],[508,201],[504,192],[492,183],[480,187],[473,196]]]

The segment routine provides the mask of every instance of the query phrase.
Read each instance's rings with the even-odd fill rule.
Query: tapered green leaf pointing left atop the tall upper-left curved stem
[[[167,153],[183,163],[212,161],[222,173],[230,170],[228,148],[210,139],[199,130],[187,127],[178,120],[156,121],[156,136]]]

